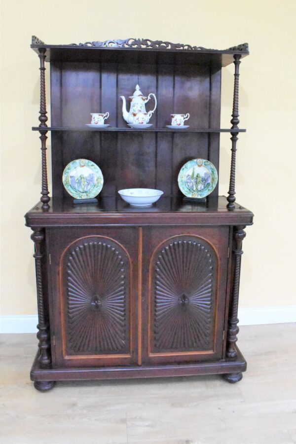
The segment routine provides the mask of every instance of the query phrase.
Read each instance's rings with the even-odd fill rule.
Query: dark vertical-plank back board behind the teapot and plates
[[[180,56],[180,55],[179,55]],[[185,60],[185,59],[184,59]],[[221,70],[209,66],[181,63],[52,63],[52,126],[84,127],[90,112],[108,111],[111,127],[127,128],[122,117],[123,95],[126,109],[136,84],[148,96],[157,97],[157,108],[150,122],[165,128],[173,112],[189,112],[190,128],[219,128]],[[176,58],[175,58],[176,62]],[[147,111],[154,107],[154,99]],[[152,127],[152,128],[153,128]],[[208,158],[219,168],[219,134],[167,132],[64,131],[52,134],[53,195],[66,195],[62,186],[65,166],[77,158],[88,158],[104,175],[102,196],[114,196],[123,187],[157,187],[166,195],[180,195],[178,174],[192,158]],[[212,193],[218,195],[218,185]]]

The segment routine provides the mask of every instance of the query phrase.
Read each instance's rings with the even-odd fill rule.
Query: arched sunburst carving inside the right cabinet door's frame
[[[205,241],[178,236],[154,256],[152,351],[213,347],[217,258]]]

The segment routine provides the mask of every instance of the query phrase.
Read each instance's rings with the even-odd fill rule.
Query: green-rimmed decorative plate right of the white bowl
[[[206,159],[192,159],[183,165],[178,185],[187,197],[203,198],[210,194],[218,182],[215,166]]]

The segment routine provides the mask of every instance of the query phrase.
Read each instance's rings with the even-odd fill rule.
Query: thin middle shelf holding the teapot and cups
[[[163,132],[163,133],[231,133],[231,131],[234,131],[230,128],[185,128],[185,129],[168,129],[168,128],[88,128],[88,127],[78,127],[78,128],[72,128],[72,127],[39,127],[39,126],[33,126],[33,131],[127,131],[127,132],[140,132],[144,131],[146,133],[154,133],[154,132]],[[236,133],[245,133],[245,128],[235,128]]]

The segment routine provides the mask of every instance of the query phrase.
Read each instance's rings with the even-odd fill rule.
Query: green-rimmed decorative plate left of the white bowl
[[[91,160],[76,159],[63,172],[63,184],[75,199],[92,199],[103,188],[102,171]]]

